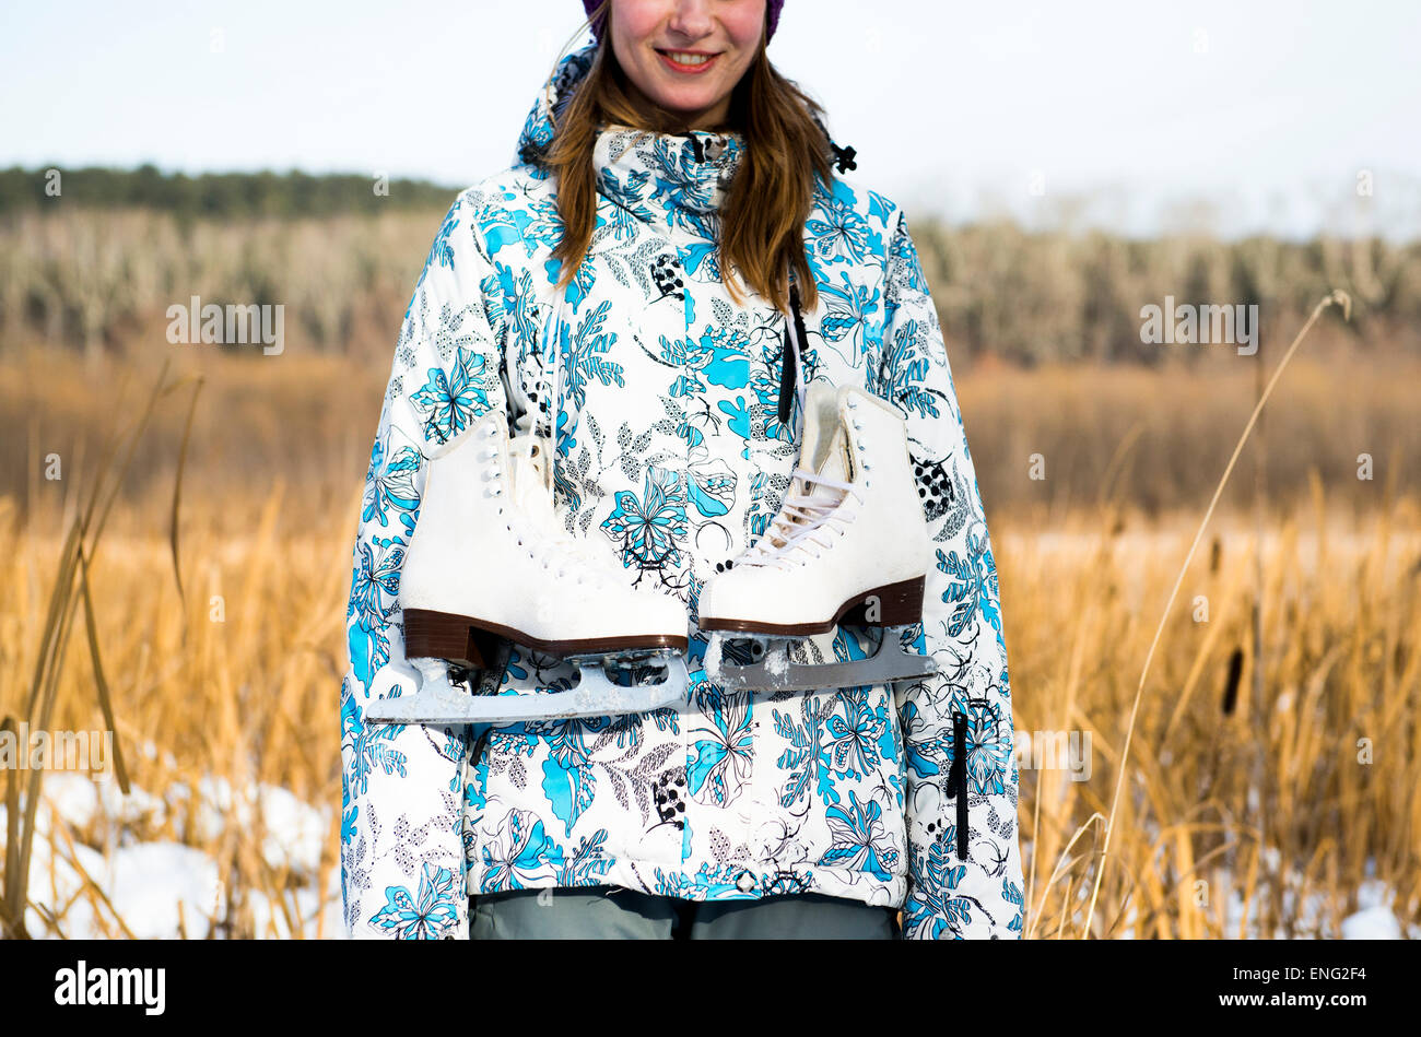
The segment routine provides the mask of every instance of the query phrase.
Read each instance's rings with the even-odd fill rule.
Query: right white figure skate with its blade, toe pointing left
[[[907,428],[884,399],[811,382],[800,463],[764,534],[701,591],[710,634],[706,675],[728,689],[813,690],[891,683],[935,672],[905,651],[922,619],[932,541],[918,499]],[[840,622],[882,628],[867,659],[799,663],[793,639]],[[739,635],[739,636],[737,636]],[[726,661],[749,641],[750,662]]]

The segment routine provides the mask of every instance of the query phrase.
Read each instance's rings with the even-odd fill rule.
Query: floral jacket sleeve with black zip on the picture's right
[[[922,636],[938,672],[897,695],[908,786],[904,935],[1019,938],[1017,769],[996,565],[942,328],[901,209],[884,311],[882,395],[905,416],[935,548]]]

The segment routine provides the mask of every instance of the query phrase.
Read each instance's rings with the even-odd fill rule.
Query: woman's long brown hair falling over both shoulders
[[[553,250],[564,287],[587,256],[597,226],[597,179],[593,151],[603,124],[618,124],[654,134],[678,132],[672,112],[644,112],[627,92],[627,74],[611,50],[611,0],[584,23],[604,18],[601,43],[587,77],[558,116],[544,161],[557,173],[557,209],[563,240]],[[821,126],[824,109],[780,75],[764,51],[764,33],[755,61],[730,94],[728,128],[745,138],[745,153],[726,188],[720,207],[719,259],[730,297],[736,291],[730,264],[752,290],[782,313],[789,313],[789,281],[794,271],[800,305],[814,305],[818,293],[804,259],[804,220],[813,207],[814,175],[830,183],[830,142]]]

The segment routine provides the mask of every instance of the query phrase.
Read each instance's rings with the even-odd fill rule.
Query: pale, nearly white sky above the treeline
[[[0,166],[459,188],[512,163],[580,21],[577,0],[9,3]],[[770,57],[909,216],[1421,236],[1417,0],[786,0]]]

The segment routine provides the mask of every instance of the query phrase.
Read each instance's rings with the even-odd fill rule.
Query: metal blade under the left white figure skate
[[[689,673],[685,656],[674,653],[665,661],[665,666],[666,676],[659,683],[622,688],[608,680],[600,665],[588,663],[583,666],[577,688],[536,695],[472,695],[452,685],[448,672],[426,672],[418,693],[369,703],[365,720],[504,724],[649,713],[684,702],[686,697]]]

